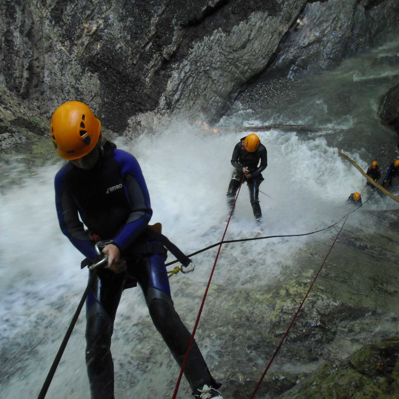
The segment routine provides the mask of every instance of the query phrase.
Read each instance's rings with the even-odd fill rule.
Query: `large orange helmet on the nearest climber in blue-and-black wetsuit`
[[[50,129],[57,154],[74,160],[84,157],[96,146],[101,122],[86,104],[69,101],[54,111]]]

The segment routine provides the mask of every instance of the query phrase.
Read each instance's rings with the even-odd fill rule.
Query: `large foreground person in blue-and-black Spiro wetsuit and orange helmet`
[[[55,176],[59,225],[87,257],[82,267],[96,260],[95,242],[83,223],[91,236],[112,240],[102,250],[108,264],[98,270],[86,300],[86,364],[91,398],[113,399],[110,346],[124,289],[140,284],[153,323],[180,367],[191,334],[174,308],[165,267],[166,249],[154,240],[155,232],[148,227],[150,197],[135,157],[103,139],[101,122],[78,101],[58,107],[50,129],[57,154],[69,161]],[[132,351],[134,348],[129,348]],[[216,391],[220,384],[210,375],[195,341],[185,376],[196,398],[221,398]]]

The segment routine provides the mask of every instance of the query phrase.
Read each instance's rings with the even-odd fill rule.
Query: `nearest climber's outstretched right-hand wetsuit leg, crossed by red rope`
[[[163,256],[143,256],[134,267],[135,277],[143,289],[151,318],[180,367],[189,346],[191,334],[177,314],[171,297]],[[212,378],[195,341],[184,374],[193,392],[206,384],[217,389],[220,384]]]

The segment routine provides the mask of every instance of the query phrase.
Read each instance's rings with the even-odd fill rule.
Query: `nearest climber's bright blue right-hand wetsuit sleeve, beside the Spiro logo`
[[[131,213],[125,225],[112,241],[123,252],[144,231],[153,211],[147,186],[136,158],[122,150],[114,150],[114,154],[114,159],[121,166],[125,193],[131,206]]]

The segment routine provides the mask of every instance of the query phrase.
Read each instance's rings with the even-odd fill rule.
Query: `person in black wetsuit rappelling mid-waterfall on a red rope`
[[[259,161],[260,165],[258,166]],[[244,180],[248,185],[253,215],[259,223],[262,218],[262,210],[259,205],[259,186],[264,180],[262,172],[267,167],[267,151],[255,133],[243,137],[235,145],[231,165],[235,168],[235,171],[231,176],[226,194],[229,211],[231,212],[242,176],[245,175]]]

